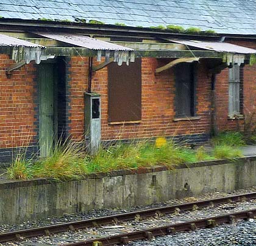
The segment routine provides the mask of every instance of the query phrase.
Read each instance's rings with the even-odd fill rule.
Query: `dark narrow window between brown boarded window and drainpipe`
[[[175,66],[176,117],[194,116],[195,75],[194,64],[180,63]]]

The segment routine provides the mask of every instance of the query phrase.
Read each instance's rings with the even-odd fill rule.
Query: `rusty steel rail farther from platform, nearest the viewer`
[[[213,228],[218,224],[232,224],[238,219],[254,218],[256,210],[246,210],[236,213],[230,213],[222,216],[208,217],[205,219],[191,220],[179,224],[169,224],[163,227],[149,228],[146,230],[134,231],[132,233],[123,233],[116,236],[108,236],[102,238],[94,238],[87,241],[80,241],[63,246],[110,246],[116,244],[127,244],[130,241],[141,239],[151,240],[154,236],[165,236],[176,232],[196,230],[196,228]]]

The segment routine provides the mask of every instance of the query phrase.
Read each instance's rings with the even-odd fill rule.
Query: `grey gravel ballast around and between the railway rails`
[[[256,188],[254,187],[254,188],[247,189],[247,190],[236,191],[235,193],[232,193],[232,194],[243,194],[243,193],[249,193],[249,192],[255,192],[255,191],[256,191]],[[181,200],[170,200],[165,203],[158,203],[158,204],[154,204],[154,205],[147,206],[147,207],[131,208],[129,210],[93,210],[88,213],[64,214],[63,216],[59,216],[59,217],[48,217],[48,218],[42,219],[42,220],[27,221],[21,225],[2,225],[2,226],[0,226],[0,231],[4,232],[4,231],[13,231],[13,230],[24,230],[26,228],[40,227],[43,225],[53,225],[53,224],[57,224],[57,223],[63,223],[63,222],[65,223],[65,222],[71,222],[71,221],[75,221],[75,220],[108,216],[108,215],[112,215],[112,214],[126,213],[129,211],[143,210],[146,208],[161,207],[164,205],[174,205],[174,204],[179,204],[179,203],[184,203],[184,202],[193,202],[196,200],[212,199],[212,198],[216,198],[216,197],[230,196],[230,195],[231,195],[231,193],[230,194],[212,193],[212,194],[204,194],[197,198],[187,197],[187,198],[181,199]],[[202,210],[186,211],[184,213],[177,212],[175,214],[167,214],[166,216],[160,216],[160,217],[155,216],[155,217],[151,217],[149,219],[133,220],[133,221],[129,221],[129,222],[124,222],[124,223],[118,224],[119,227],[116,227],[116,228],[98,227],[98,228],[88,228],[88,230],[66,231],[65,233],[59,233],[56,235],[49,235],[49,236],[42,236],[42,237],[37,237],[37,238],[26,239],[26,241],[17,242],[17,243],[7,242],[7,243],[1,244],[1,245],[36,245],[36,244],[63,245],[68,242],[70,243],[70,242],[75,242],[75,241],[81,241],[81,240],[86,240],[86,239],[90,239],[93,237],[112,236],[112,235],[119,234],[119,233],[128,233],[130,231],[143,230],[146,228],[158,227],[158,226],[163,226],[166,224],[176,224],[176,223],[186,222],[186,221],[193,220],[193,219],[202,219],[204,217],[211,217],[211,216],[217,216],[217,215],[221,215],[221,214],[233,213],[233,212],[241,211],[241,210],[251,210],[251,209],[255,209],[255,207],[256,207],[255,203],[256,203],[256,200],[243,201],[243,202],[238,202],[238,203],[226,203],[226,204],[219,205],[218,207],[208,207],[208,208],[205,208]],[[193,231],[190,233],[182,233],[182,234],[186,235],[183,237],[182,236],[180,237],[179,236],[180,233],[179,233],[176,235],[157,237],[150,242],[149,241],[132,242],[130,245],[256,245],[256,243],[255,244],[247,244],[247,243],[246,244],[232,244],[232,242],[229,242],[226,244],[226,241],[224,242],[224,244],[218,244],[219,242],[221,242],[221,240],[229,239],[229,236],[227,236],[227,235],[232,232],[232,231],[231,232],[229,231],[229,228],[233,228],[233,230],[236,230],[235,228],[238,227],[238,229],[236,231],[239,232],[241,230],[241,228],[243,228],[243,225],[248,225],[248,226],[244,226],[244,228],[247,228],[247,229],[245,229],[246,230],[245,233],[248,233],[250,235],[252,234],[249,238],[250,238],[250,240],[251,240],[251,238],[253,239],[254,236],[256,235],[256,227],[255,227],[254,221],[238,222],[237,225],[221,225],[220,227],[216,227],[213,229],[213,231],[216,231],[215,233],[213,233],[213,238],[216,237],[216,240],[210,239],[208,244],[206,241],[204,242],[204,244],[203,244],[203,242],[202,242],[202,244],[197,243],[196,240],[201,239],[201,236],[199,233],[199,231],[201,231],[201,230],[196,230],[196,231]],[[251,228],[251,227],[254,227],[255,230],[250,230],[249,228]],[[217,233],[218,228],[220,231],[222,231],[222,233],[226,234],[226,236],[223,236],[223,238],[221,236],[219,236],[219,234]],[[210,231],[208,229],[202,229],[202,230]],[[196,233],[199,233],[199,235],[197,236]],[[189,238],[192,235],[195,235],[194,238],[187,240],[187,237]],[[230,234],[230,237],[231,236],[232,236],[232,234]],[[212,238],[212,237],[210,237],[210,238]],[[185,241],[182,241],[182,239],[184,239]],[[207,239],[207,237],[205,237],[205,240],[206,239]],[[165,240],[167,240],[167,241],[165,242]],[[181,241],[179,242],[179,240],[181,240]],[[214,242],[214,244],[213,244],[213,242]],[[33,243],[36,243],[36,244],[33,244]]]

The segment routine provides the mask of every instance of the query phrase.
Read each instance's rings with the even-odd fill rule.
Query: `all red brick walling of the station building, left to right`
[[[241,43],[240,43],[241,44]],[[246,46],[246,43],[242,45]],[[248,47],[256,47],[249,43]],[[179,134],[210,132],[210,78],[203,60],[199,64],[197,80],[196,113],[200,120],[173,121],[174,71],[155,75],[154,70],[167,60],[142,59],[142,119],[141,123],[108,125],[107,115],[107,67],[93,76],[92,91],[102,95],[102,140],[143,138]],[[0,148],[12,148],[37,142],[38,115],[35,107],[37,89],[35,66],[28,64],[13,72],[12,78],[5,75],[5,67],[14,62],[8,55],[0,55]],[[256,66],[244,67],[244,113],[255,112]],[[69,133],[77,140],[84,138],[84,92],[88,84],[88,58],[73,57],[69,61]],[[216,107],[219,129],[236,129],[236,122],[228,120],[228,75],[227,69],[217,75]],[[243,123],[243,120],[240,120]]]

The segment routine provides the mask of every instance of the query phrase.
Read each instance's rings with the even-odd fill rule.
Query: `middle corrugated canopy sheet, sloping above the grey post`
[[[133,49],[119,46],[118,44],[108,43],[99,39],[90,38],[88,36],[76,35],[70,33],[37,33],[38,35],[52,38],[64,43],[74,44],[75,46],[84,47],[93,50],[120,50],[133,51]]]

